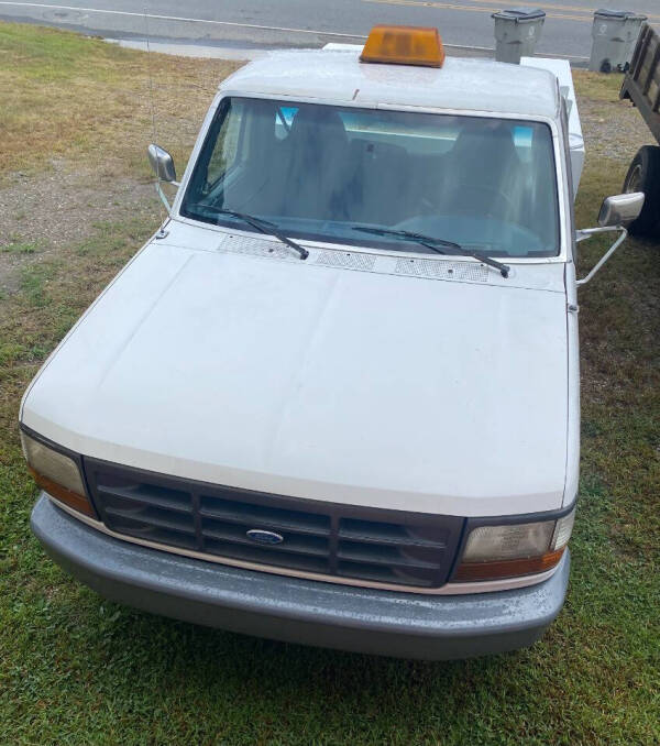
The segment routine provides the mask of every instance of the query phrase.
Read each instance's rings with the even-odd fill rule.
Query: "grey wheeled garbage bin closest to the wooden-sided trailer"
[[[628,10],[601,9],[594,13],[592,53],[588,69],[597,73],[625,73],[646,15]]]

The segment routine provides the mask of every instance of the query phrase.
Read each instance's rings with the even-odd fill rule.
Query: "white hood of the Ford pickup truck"
[[[505,281],[471,262],[389,273],[220,243],[147,244],[46,362],[22,421],[84,456],[283,495],[462,516],[561,506],[561,264]]]

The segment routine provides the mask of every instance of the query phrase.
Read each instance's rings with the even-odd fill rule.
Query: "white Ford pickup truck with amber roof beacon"
[[[46,551],[235,632],[429,659],[534,643],[569,578],[578,286],[644,200],[575,230],[568,64],[376,28],[224,80],[180,184],[150,156],[168,220],[21,406]],[[620,237],[578,281],[601,230]]]

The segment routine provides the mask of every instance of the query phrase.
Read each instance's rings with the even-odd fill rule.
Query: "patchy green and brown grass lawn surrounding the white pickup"
[[[180,169],[232,67],[0,23],[0,744],[660,743],[657,244],[629,241],[581,289],[571,585],[530,649],[411,662],[196,627],[105,601],[31,535],[20,397],[158,224],[148,87]],[[587,227],[650,135],[619,77],[576,83]],[[581,274],[606,245],[590,244]]]

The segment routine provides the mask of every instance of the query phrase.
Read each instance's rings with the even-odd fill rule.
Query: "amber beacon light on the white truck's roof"
[[[363,63],[442,67],[444,47],[438,29],[425,26],[374,26],[366,40]]]

